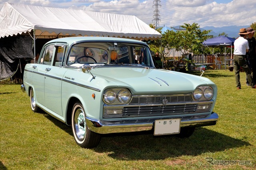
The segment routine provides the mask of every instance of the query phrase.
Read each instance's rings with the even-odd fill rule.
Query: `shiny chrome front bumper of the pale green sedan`
[[[205,118],[181,119],[180,127],[201,127],[216,125],[218,119],[218,114],[212,112],[212,114]],[[107,134],[151,131],[154,129],[154,120],[156,119],[136,119],[129,121],[129,123],[124,123],[122,121],[99,121],[86,117],[86,124],[88,128],[95,133]]]

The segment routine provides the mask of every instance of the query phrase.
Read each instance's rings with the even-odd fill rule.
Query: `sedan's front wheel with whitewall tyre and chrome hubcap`
[[[72,133],[76,143],[83,148],[94,148],[100,143],[100,135],[86,125],[84,108],[79,102],[72,109]]]

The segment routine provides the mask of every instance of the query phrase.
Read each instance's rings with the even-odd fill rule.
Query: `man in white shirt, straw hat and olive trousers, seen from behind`
[[[246,77],[248,78],[250,86],[252,86],[252,88],[255,88],[255,84],[252,81],[251,70],[245,60],[246,52],[249,51],[249,43],[246,40],[246,35],[248,33],[245,28],[241,28],[238,34],[240,35],[240,37],[238,37],[238,39],[234,41],[234,70],[236,77],[236,89],[241,89],[240,67],[242,67],[246,72]]]

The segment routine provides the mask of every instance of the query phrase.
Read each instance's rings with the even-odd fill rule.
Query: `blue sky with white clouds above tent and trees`
[[[154,25],[154,14],[158,14],[160,27],[184,23],[223,27],[256,22],[256,1],[252,0],[0,0],[0,9],[5,2],[134,15]]]

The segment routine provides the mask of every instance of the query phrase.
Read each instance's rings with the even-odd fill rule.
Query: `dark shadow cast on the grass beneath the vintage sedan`
[[[57,127],[73,136],[70,126],[45,112],[43,114]],[[102,135],[100,144],[93,150],[98,153],[109,153],[108,156],[117,160],[161,160],[182,155],[196,156],[207,152],[250,146],[250,143],[246,141],[204,127],[197,127],[191,137],[184,139],[174,135],[155,137],[152,134],[152,131],[147,131],[143,133]]]

